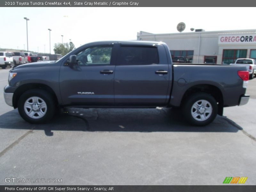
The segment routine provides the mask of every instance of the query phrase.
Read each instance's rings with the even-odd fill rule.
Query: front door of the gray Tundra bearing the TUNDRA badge
[[[77,65],[68,59],[60,67],[60,93],[64,105],[114,105],[114,43],[98,43],[75,52]]]

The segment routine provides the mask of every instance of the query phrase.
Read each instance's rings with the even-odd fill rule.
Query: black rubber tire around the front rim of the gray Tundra
[[[39,112],[39,110],[34,111],[32,109],[31,110],[33,112],[35,112],[34,118],[27,115],[27,112],[25,112],[25,109],[24,109],[24,104],[31,97],[37,97],[37,98],[41,99],[41,101],[42,100],[44,101],[44,103],[46,104],[46,107],[47,107],[46,110],[44,111],[44,116],[40,117],[39,115],[37,115],[37,117],[36,117],[36,113]],[[46,92],[45,90],[41,90],[41,89],[32,89],[32,90],[26,91],[25,93],[23,93],[20,96],[19,101],[18,101],[18,111],[20,113],[20,116],[25,121],[32,123],[32,124],[47,123],[54,116],[55,110],[56,110],[56,104],[54,102],[52,95],[49,94],[48,92]]]

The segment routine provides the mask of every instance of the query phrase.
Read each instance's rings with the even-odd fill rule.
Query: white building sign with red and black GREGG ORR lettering
[[[256,34],[220,35],[219,44],[256,44]]]

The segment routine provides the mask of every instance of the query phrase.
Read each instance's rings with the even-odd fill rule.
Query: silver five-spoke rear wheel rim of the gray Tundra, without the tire
[[[212,105],[207,100],[196,101],[191,108],[191,115],[196,121],[205,121],[212,115]]]

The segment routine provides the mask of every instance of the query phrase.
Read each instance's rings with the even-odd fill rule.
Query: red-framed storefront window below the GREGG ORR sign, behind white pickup
[[[222,64],[235,63],[238,58],[246,58],[247,49],[223,49]]]

